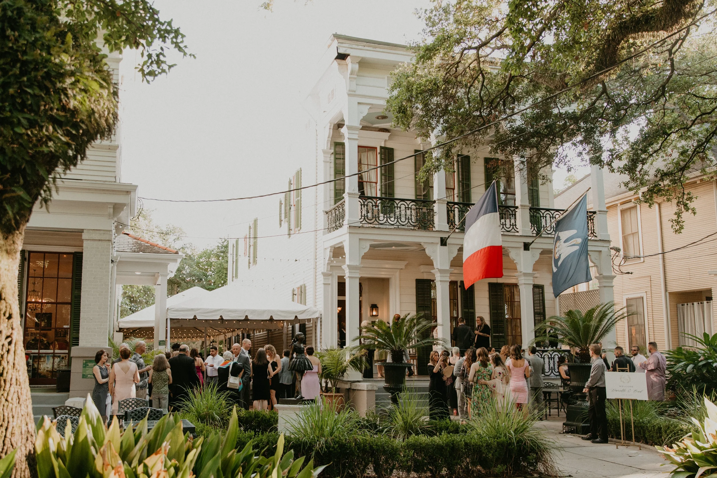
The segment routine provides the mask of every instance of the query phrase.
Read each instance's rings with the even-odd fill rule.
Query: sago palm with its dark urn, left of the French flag
[[[374,348],[376,352],[384,350],[388,355],[383,364],[384,390],[391,394],[391,401],[394,403],[398,403],[398,393],[406,388],[406,371],[411,366],[410,363],[404,362],[405,353],[420,347],[444,345],[441,339],[432,336],[431,330],[434,326],[431,320],[419,313],[394,319],[391,325],[383,320],[376,320],[361,327],[361,335],[356,338],[361,340],[359,348]]]

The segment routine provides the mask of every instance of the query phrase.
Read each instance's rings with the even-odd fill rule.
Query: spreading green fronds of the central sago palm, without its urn
[[[391,355],[391,362],[402,363],[404,350],[415,350],[433,345],[443,345],[443,340],[434,338],[431,330],[434,323],[424,317],[422,313],[406,314],[389,325],[383,320],[376,320],[374,324],[361,327],[361,335],[354,340],[361,339],[359,348],[368,350],[386,350]]]

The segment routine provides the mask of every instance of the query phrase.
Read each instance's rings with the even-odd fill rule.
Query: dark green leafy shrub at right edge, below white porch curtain
[[[702,337],[685,334],[695,340],[698,348],[678,347],[665,353],[668,388],[674,391],[696,388],[699,393],[717,391],[717,334]]]

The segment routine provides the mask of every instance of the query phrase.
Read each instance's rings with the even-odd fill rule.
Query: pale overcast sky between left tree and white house
[[[122,177],[139,196],[218,199],[286,187],[294,171],[293,138],[305,134],[305,92],[332,33],[407,43],[419,39],[416,9],[428,0],[157,0],[164,19],[186,34],[196,59],[177,64],[150,85],[125,52],[120,63]],[[313,133],[312,133],[313,134]],[[556,174],[556,187],[564,174]],[[265,202],[272,214],[277,201]],[[244,206],[247,204],[244,203]],[[184,228],[204,247],[225,236],[242,201],[171,204],[144,201],[159,224]],[[236,226],[235,236],[246,234]],[[206,238],[206,239],[201,239]]]

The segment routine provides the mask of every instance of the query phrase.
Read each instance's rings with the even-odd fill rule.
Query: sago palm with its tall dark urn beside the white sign
[[[568,406],[564,428],[576,433],[588,431],[587,394],[583,393],[585,383],[590,378],[590,345],[602,342],[617,322],[627,317],[625,309],[615,310],[614,302],[596,305],[584,313],[580,310],[568,310],[565,317],[554,315],[536,326],[536,341],[546,336],[557,336],[563,345],[576,348],[579,362],[569,363],[571,396],[574,403]]]

